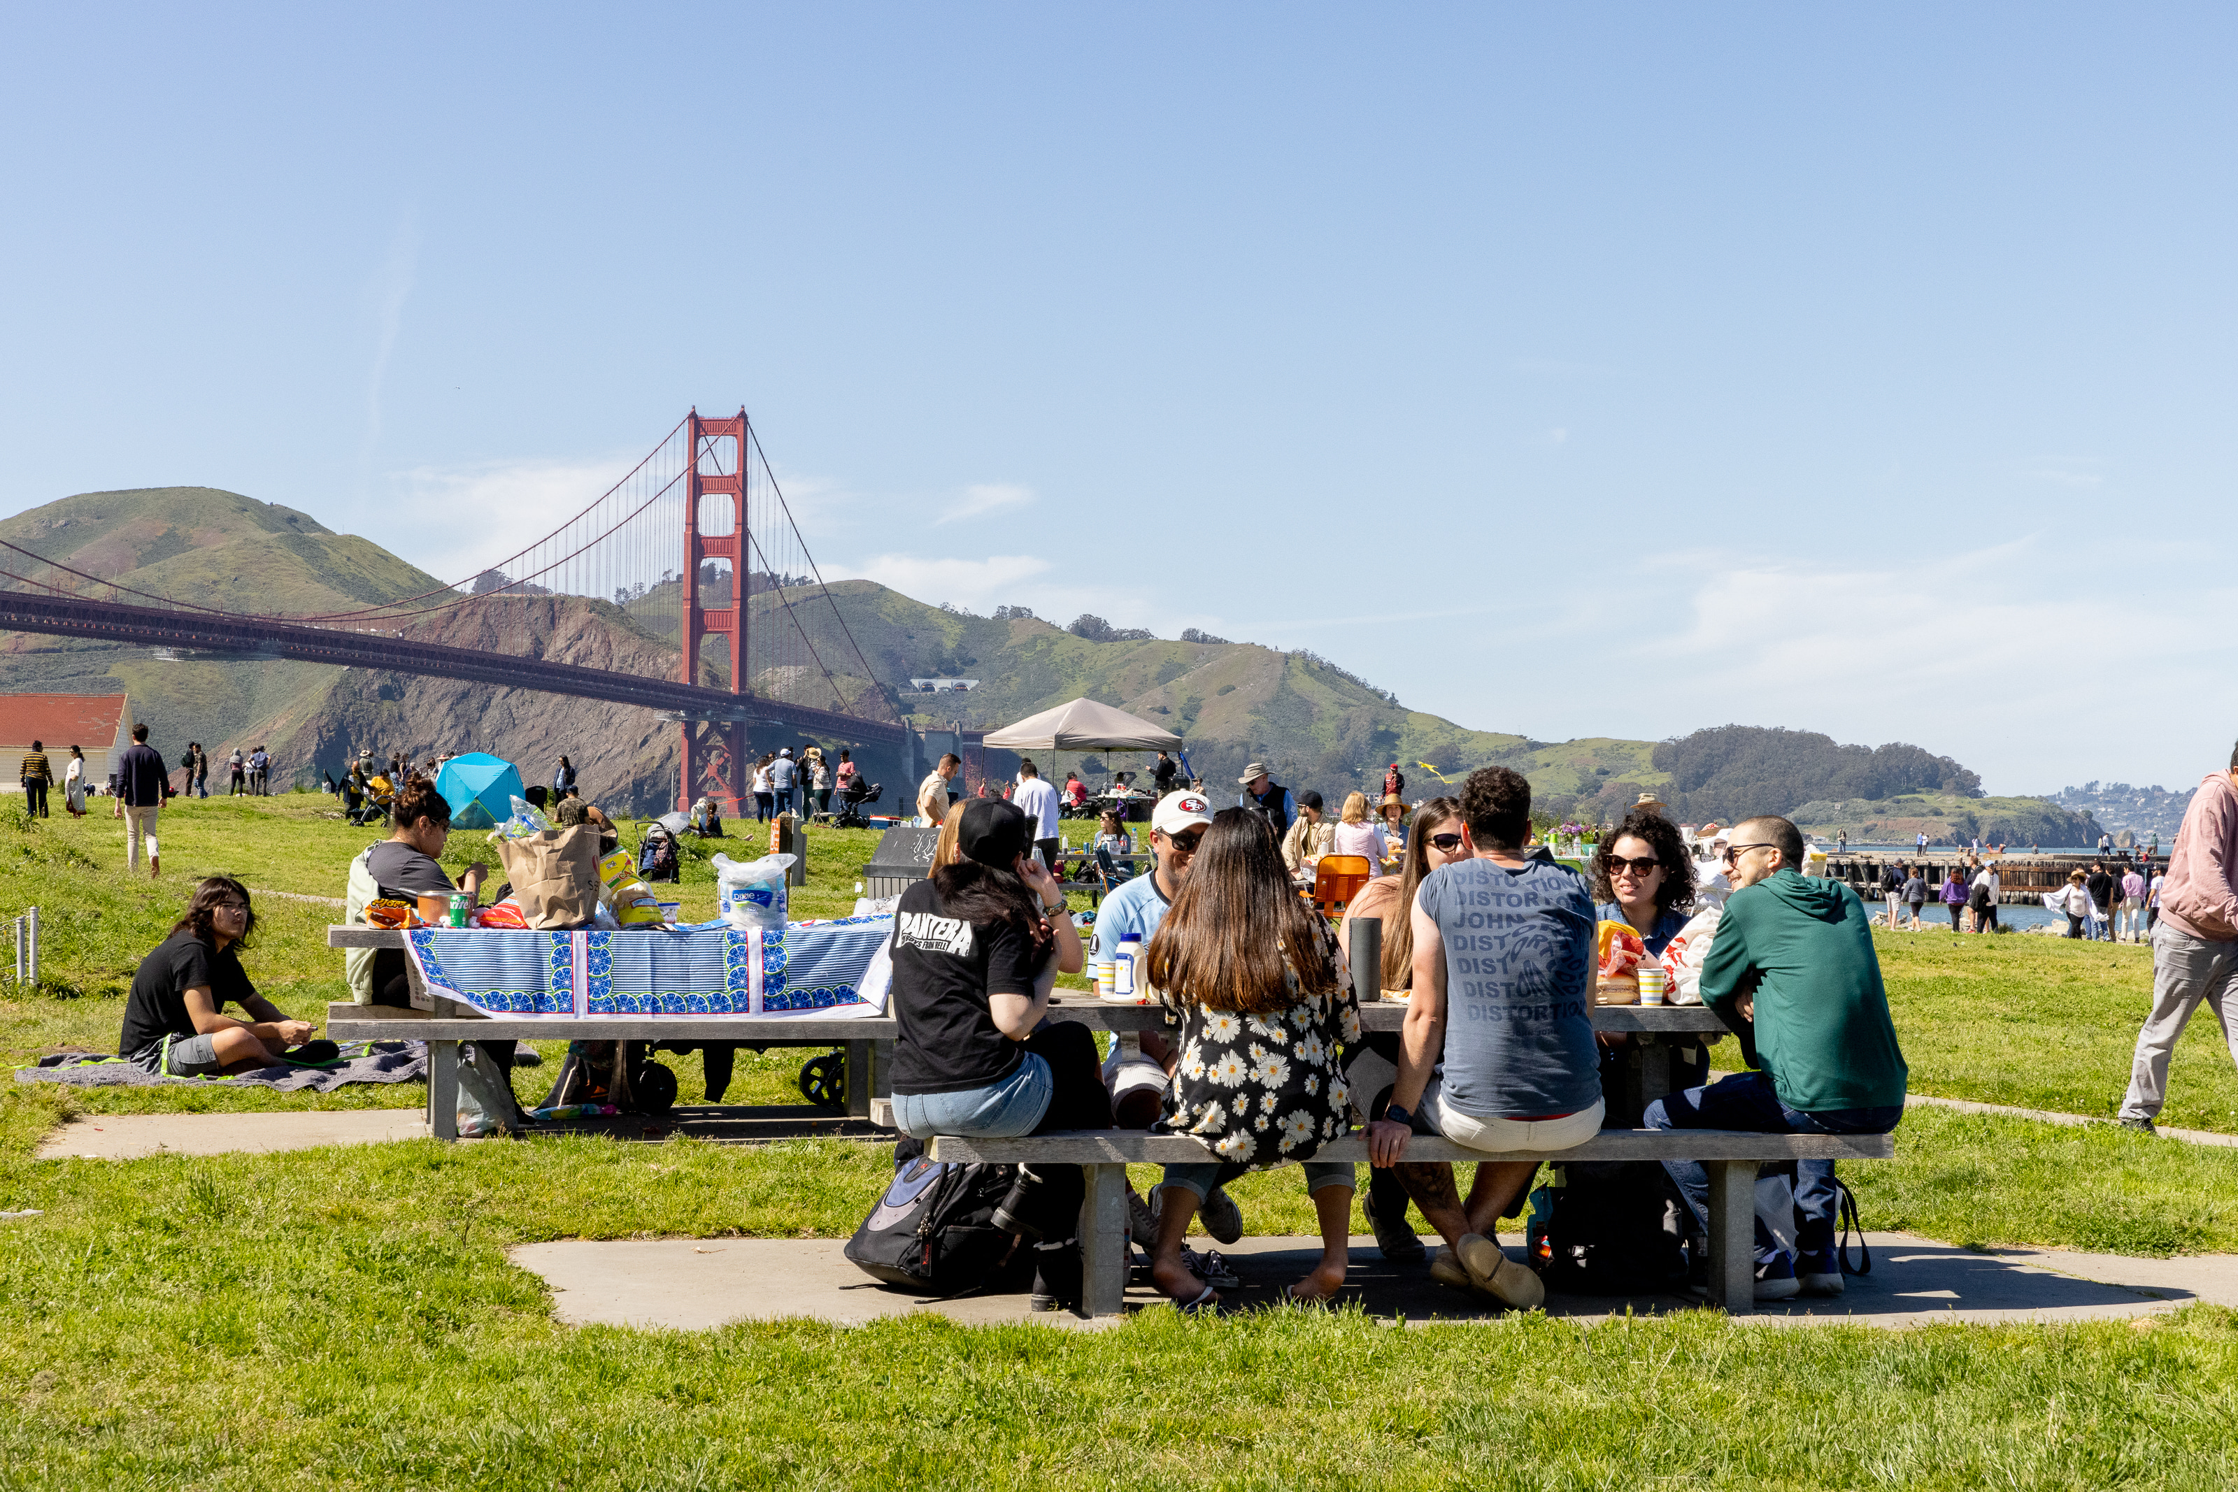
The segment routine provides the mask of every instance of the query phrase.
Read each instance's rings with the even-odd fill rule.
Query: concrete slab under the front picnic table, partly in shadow
[[[1766,1306],[1755,1322],[1918,1326],[1925,1322],[2070,1322],[2148,1315],[2189,1300],[2238,1306],[2238,1255],[2126,1259],[2068,1250],[2016,1248],[1976,1253],[1911,1237],[1869,1235],[1873,1273],[1849,1279],[1840,1300]],[[1504,1237],[1511,1255],[1520,1237]],[[958,1322],[1038,1320],[1085,1326],[1072,1315],[1029,1315],[1025,1295],[924,1300],[877,1284],[839,1253],[837,1239],[656,1239],[524,1244],[510,1259],[553,1288],[555,1313],[568,1324],[671,1326],[698,1331],[743,1320],[810,1315],[859,1324],[886,1315],[938,1311]],[[1222,1250],[1242,1277],[1224,1291],[1231,1306],[1260,1306],[1280,1297],[1318,1257],[1300,1237],[1244,1239]],[[1141,1271],[1137,1271],[1141,1279]],[[1137,1282],[1128,1309],[1164,1297]],[[1343,1300],[1361,1302],[1385,1320],[1488,1320],[1475,1300],[1432,1284],[1423,1266],[1394,1266],[1374,1239],[1352,1239]],[[1602,1320],[1625,1309],[1640,1315],[1690,1311],[1699,1302],[1676,1295],[1580,1297],[1551,1295],[1551,1315]]]

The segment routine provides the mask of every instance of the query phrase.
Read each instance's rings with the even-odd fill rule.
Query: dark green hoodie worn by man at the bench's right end
[[[1732,1002],[1755,984],[1755,1031]],[[1741,1033],[1741,1056],[1790,1109],[1878,1109],[1905,1101],[1905,1054],[1864,904],[1842,881],[1777,870],[1725,899],[1701,971],[1703,1004]]]

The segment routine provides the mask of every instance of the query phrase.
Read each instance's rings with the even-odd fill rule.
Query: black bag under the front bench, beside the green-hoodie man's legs
[[[1685,1284],[1681,1228],[1661,1163],[1573,1161],[1546,1199],[1553,1217],[1533,1264],[1549,1291],[1638,1295]],[[1538,1241],[1535,1217],[1531,1233]]]

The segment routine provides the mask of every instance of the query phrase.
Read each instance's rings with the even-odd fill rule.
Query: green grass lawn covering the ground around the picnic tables
[[[141,953],[195,877],[340,895],[372,834],[316,796],[166,812],[166,877],[125,881],[121,825],[0,810],[0,910],[45,908],[47,982],[0,1004],[7,1051],[107,1047]],[[20,805],[13,808],[20,814]],[[846,910],[875,834],[817,832],[810,913]],[[463,863],[479,834],[457,834]],[[687,915],[709,915],[698,846]],[[333,908],[260,899],[251,978],[340,1000]],[[2108,1112],[2144,957],[2037,937],[1884,935],[1920,1092]],[[2025,1029],[2021,1029],[2025,1027]],[[557,1054],[557,1045],[546,1045]],[[799,1056],[741,1054],[783,1101]],[[2218,1065],[2220,1063],[2220,1065]],[[683,1060],[698,1094],[696,1058]],[[546,1074],[521,1074],[539,1096]],[[2238,1127],[2227,1058],[2189,1036],[2171,1121]],[[535,1092],[530,1092],[535,1089]],[[2178,1114],[2193,1101],[2198,1112]],[[2238,1315],[2140,1324],[1786,1331],[1710,1313],[1392,1331],[1273,1311],[1121,1329],[568,1329],[504,1248],[560,1237],[853,1230],[880,1145],[694,1141],[358,1145],[217,1161],[29,1159],[72,1112],[419,1105],[421,1089],[0,1092],[4,1485],[1772,1485],[2227,1488]],[[2225,1103],[2222,1107],[2238,1107]],[[1958,1244],[2238,1250],[2238,1152],[2110,1127],[1916,1112],[1851,1165],[1866,1219]],[[1296,1174],[1253,1177],[1256,1233],[1305,1233]]]

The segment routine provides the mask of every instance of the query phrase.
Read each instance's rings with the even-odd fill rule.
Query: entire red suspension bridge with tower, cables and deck
[[[680,651],[645,678],[412,638],[466,608],[586,597]],[[519,553],[351,611],[244,615],[139,591],[0,539],[0,631],[430,673],[658,709],[683,734],[678,808],[747,790],[747,731],[909,745],[909,727],[808,553],[752,423],[676,423],[627,476]],[[821,638],[821,644],[819,644]]]

